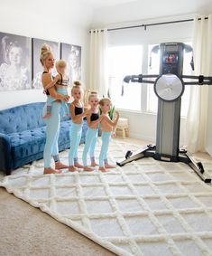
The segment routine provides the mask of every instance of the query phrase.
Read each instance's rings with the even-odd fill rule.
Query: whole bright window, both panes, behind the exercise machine
[[[124,76],[141,73],[159,74],[160,54],[152,52],[152,66],[150,67],[150,53],[155,45],[143,43],[143,45],[111,46],[108,48],[109,92],[112,101],[115,102],[115,108],[157,112],[158,98],[154,93],[153,84],[124,83],[124,96],[121,96]],[[143,54],[143,52],[146,53]],[[191,52],[184,53],[183,74],[191,74],[189,65],[191,54]],[[181,98],[182,117],[187,116],[189,90],[190,87],[186,86]]]

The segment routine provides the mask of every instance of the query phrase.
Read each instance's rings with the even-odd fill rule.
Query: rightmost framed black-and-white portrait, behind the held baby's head
[[[67,62],[70,84],[81,80],[81,46],[60,43],[60,56]]]

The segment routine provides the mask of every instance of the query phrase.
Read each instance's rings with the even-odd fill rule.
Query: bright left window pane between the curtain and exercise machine
[[[124,83],[126,75],[142,73],[143,48],[141,45],[115,46],[108,49],[109,93],[115,108],[141,110],[141,84]]]

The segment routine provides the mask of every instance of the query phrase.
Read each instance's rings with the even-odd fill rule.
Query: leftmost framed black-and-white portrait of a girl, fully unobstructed
[[[31,86],[31,39],[0,33],[0,90],[25,90]]]

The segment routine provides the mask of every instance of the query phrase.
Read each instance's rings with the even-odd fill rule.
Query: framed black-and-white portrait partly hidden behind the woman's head
[[[54,54],[56,61],[60,59],[60,43],[32,38],[32,88],[42,89],[41,74],[43,67],[40,62],[40,52],[43,43],[50,45],[51,51]],[[52,75],[57,73],[56,69],[53,69]]]

